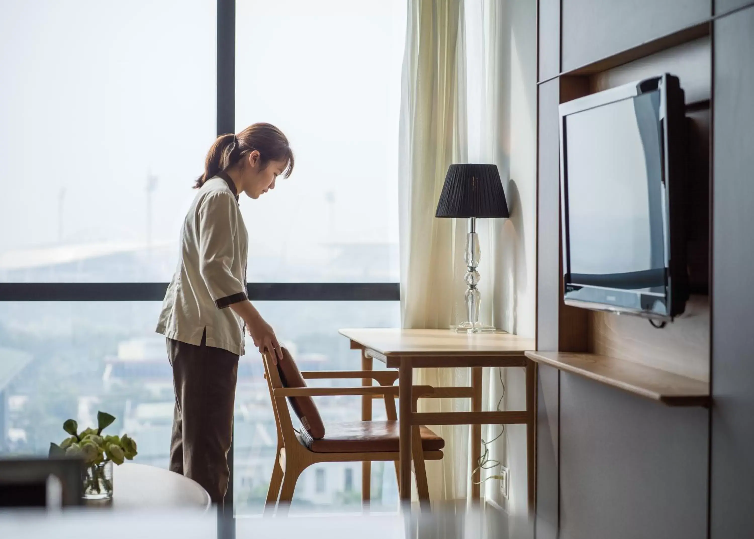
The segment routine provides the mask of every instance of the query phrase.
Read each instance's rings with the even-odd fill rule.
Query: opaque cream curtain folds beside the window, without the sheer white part
[[[466,159],[463,1],[409,0],[400,110],[400,307],[406,328],[447,328],[463,309],[465,223],[435,219],[448,166]],[[417,369],[415,383],[464,385],[468,369]],[[468,409],[420,400],[423,412]],[[432,427],[446,458],[427,462],[433,500],[465,498],[468,428]]]

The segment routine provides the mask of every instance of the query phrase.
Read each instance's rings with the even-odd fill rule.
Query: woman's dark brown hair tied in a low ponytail
[[[254,150],[259,152],[262,169],[270,161],[287,161],[283,177],[287,178],[293,172],[293,150],[290,149],[286,136],[272,124],[259,123],[250,125],[238,135],[225,133],[218,136],[207,152],[204,174],[196,179],[194,188],[200,188],[208,179],[237,164],[244,155]]]

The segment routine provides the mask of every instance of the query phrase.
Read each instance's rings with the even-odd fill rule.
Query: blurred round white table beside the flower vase
[[[198,482],[179,473],[132,462],[112,467],[115,509],[210,509],[210,495]]]

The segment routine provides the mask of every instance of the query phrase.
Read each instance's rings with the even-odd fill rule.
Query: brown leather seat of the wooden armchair
[[[445,440],[427,427],[419,427],[425,451],[439,451]],[[311,439],[305,431],[302,442],[315,453],[397,452],[398,421],[325,421],[325,436]]]

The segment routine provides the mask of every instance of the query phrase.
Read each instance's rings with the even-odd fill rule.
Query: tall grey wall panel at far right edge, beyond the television
[[[710,537],[754,537],[754,8],[717,20]]]

